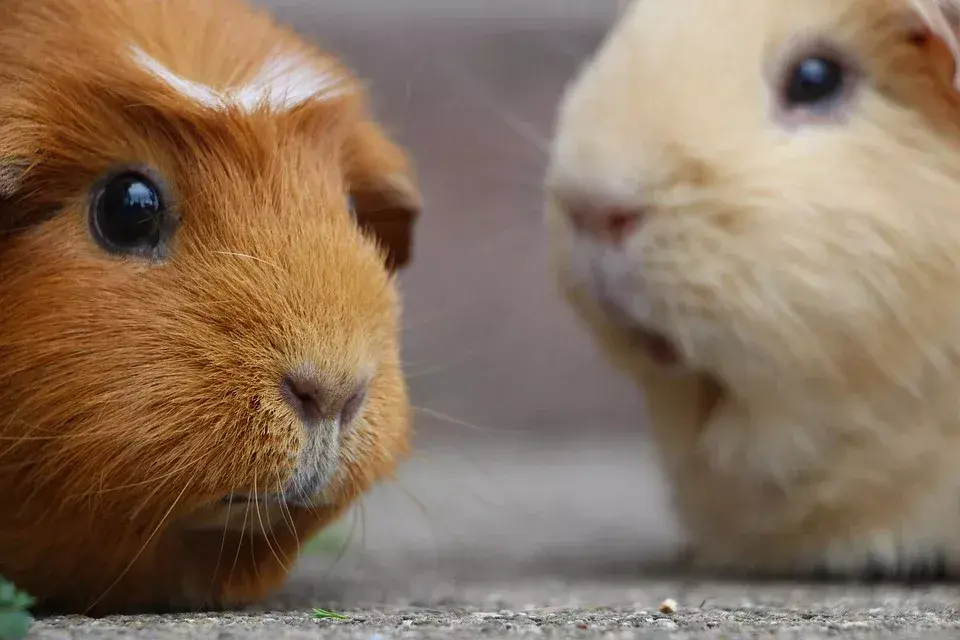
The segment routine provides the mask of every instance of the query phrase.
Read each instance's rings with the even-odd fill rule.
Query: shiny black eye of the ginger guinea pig
[[[93,230],[108,250],[153,254],[164,239],[166,205],[155,181],[140,172],[111,176],[93,202]]]

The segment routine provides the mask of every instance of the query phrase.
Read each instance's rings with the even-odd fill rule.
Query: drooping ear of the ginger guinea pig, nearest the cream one
[[[386,250],[387,267],[398,271],[412,258],[413,232],[423,207],[410,162],[369,122],[355,130],[348,156],[354,215]]]

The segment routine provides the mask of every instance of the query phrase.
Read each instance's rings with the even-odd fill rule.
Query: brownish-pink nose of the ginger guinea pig
[[[301,367],[283,377],[281,394],[306,425],[336,422],[346,427],[360,413],[366,385],[358,384],[352,391],[344,393],[324,385],[318,375]]]

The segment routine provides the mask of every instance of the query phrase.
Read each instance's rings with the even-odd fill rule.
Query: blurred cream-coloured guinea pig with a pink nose
[[[960,574],[957,5],[636,0],[561,99],[553,272],[698,572]]]

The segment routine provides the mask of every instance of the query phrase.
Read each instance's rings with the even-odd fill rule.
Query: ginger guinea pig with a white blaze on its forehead
[[[4,0],[0,575],[238,607],[408,450],[412,162],[241,0]]]

